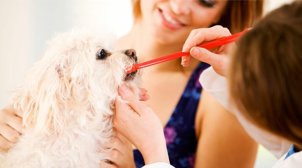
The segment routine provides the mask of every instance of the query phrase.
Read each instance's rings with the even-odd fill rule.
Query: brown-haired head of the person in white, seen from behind
[[[302,145],[302,2],[272,11],[239,40],[228,81],[247,119]]]

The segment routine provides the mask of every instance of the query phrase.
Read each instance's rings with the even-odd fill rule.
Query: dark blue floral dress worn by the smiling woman
[[[198,78],[210,65],[200,63],[192,73],[171,118],[164,128],[170,163],[176,168],[194,166],[197,138],[195,136],[195,115],[201,95]],[[137,167],[145,165],[139,150],[133,150]]]

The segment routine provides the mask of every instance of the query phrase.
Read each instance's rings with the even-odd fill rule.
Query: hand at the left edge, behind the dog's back
[[[18,140],[22,133],[22,111],[8,105],[0,110],[0,148],[8,150],[10,144]]]

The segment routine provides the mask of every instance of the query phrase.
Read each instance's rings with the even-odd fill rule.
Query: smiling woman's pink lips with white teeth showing
[[[176,18],[169,15],[168,12],[162,11],[158,8],[158,13],[162,24],[169,29],[177,30],[185,26],[184,24],[180,23]]]

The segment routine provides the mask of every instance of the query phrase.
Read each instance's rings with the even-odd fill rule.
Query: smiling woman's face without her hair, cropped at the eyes
[[[140,2],[143,29],[156,43],[174,46],[181,46],[191,30],[217,23],[227,4],[227,1],[214,1],[209,7],[207,1]]]

